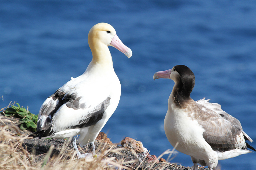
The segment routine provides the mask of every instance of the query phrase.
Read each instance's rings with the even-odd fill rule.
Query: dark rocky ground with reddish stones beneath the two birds
[[[16,135],[29,135],[30,131],[21,131],[17,126],[19,120],[0,115],[0,127],[8,125],[9,131]],[[167,163],[164,159],[158,160],[156,155],[148,153],[140,141],[126,137],[121,144],[113,144],[104,132],[100,132],[94,142],[97,154],[101,154],[103,150],[113,148],[112,151],[106,153],[106,157],[114,157],[115,160],[125,162],[123,164],[131,169],[163,169],[163,170],[190,170],[192,167],[185,167],[174,163]],[[49,151],[50,146],[54,146],[51,158],[59,153],[64,153],[63,159],[69,159],[74,153],[72,144],[66,139],[25,139],[22,144],[29,153],[35,155],[34,162],[42,162],[45,154]],[[78,144],[77,144],[78,145]],[[63,151],[61,151],[63,149]],[[118,150],[118,151],[117,151]],[[90,148],[82,147],[81,153],[90,152]],[[199,167],[200,170],[207,170]]]

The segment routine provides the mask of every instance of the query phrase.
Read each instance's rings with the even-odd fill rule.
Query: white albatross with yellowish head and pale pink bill
[[[85,72],[71,78],[42,104],[37,121],[37,131],[32,135],[39,139],[69,138],[77,156],[82,158],[75,135],[80,135],[80,146],[90,144],[95,156],[94,140],[114,113],[120,100],[121,84],[113,68],[108,45],[132,56],[130,48],[117,37],[115,29],[107,23],[91,28],[88,43],[92,61]]]

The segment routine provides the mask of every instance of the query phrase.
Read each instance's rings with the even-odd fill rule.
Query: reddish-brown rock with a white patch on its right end
[[[125,137],[121,141],[121,145],[124,147],[132,148],[137,153],[144,153],[148,151],[145,147],[143,147],[140,141],[137,141],[130,137]]]

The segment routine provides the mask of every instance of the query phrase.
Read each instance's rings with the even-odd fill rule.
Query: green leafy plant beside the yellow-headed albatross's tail
[[[20,118],[20,128],[22,130],[30,130],[35,132],[36,131],[36,124],[37,124],[37,115],[30,113],[27,109],[18,106],[12,105],[9,108],[6,108],[5,111],[1,112],[4,116],[8,117],[15,117]]]

